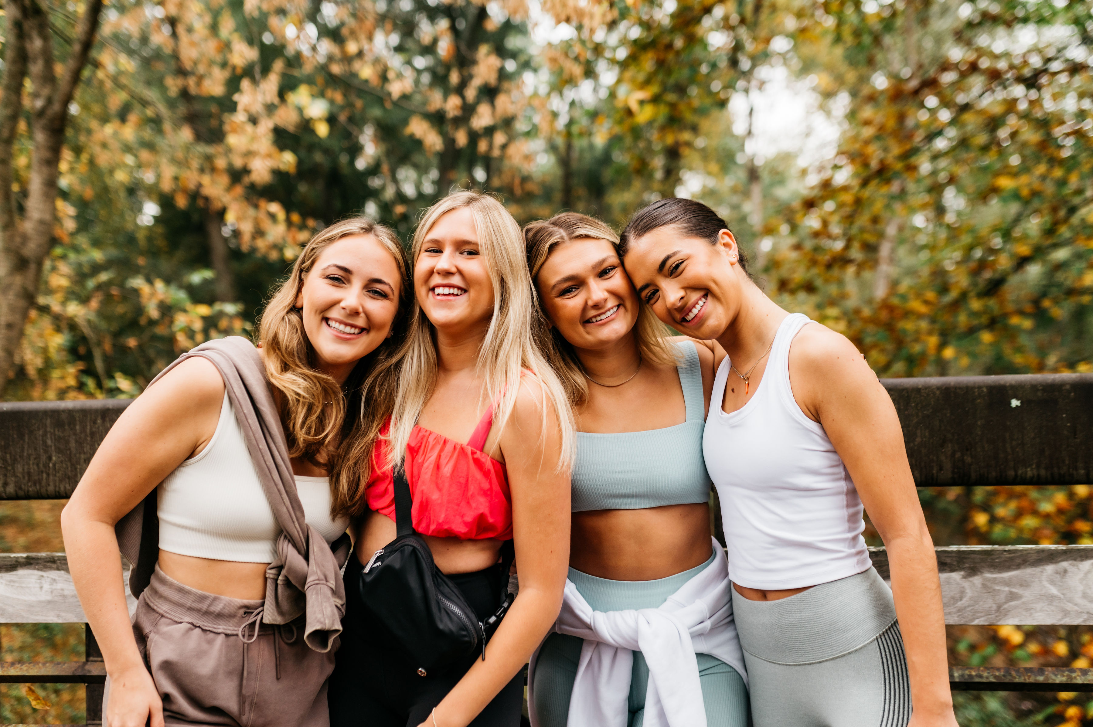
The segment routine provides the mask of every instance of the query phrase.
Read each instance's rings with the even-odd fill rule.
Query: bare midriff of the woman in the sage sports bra
[[[573,514],[569,565],[610,581],[656,581],[709,560],[705,503]]]

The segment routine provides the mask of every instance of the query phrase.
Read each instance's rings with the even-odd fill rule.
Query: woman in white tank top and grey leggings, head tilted
[[[701,202],[639,210],[621,248],[660,320],[728,354],[703,453],[755,727],[955,727],[933,543],[895,408],[865,357],[760,291]],[[870,564],[862,503],[891,589]]]

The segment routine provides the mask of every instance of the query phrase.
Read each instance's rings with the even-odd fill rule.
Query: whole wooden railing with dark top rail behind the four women
[[[1093,482],[1093,374],[883,383],[918,486]],[[127,403],[0,403],[0,500],[68,497]],[[884,549],[871,554],[886,577]],[[945,623],[1093,624],[1093,546],[944,547],[937,554]],[[63,553],[0,554],[0,623],[84,621]],[[106,670],[86,634],[85,661],[0,661],[0,683],[86,684],[87,724],[101,724]],[[1093,692],[1093,669],[952,667],[950,679],[956,690]]]

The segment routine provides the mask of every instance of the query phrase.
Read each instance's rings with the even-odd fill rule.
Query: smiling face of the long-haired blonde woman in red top
[[[490,326],[493,282],[469,207],[442,214],[425,233],[413,285],[422,313],[438,330],[484,331]]]

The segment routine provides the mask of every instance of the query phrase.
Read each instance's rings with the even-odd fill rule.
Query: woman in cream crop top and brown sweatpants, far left
[[[273,443],[280,461],[291,461],[292,472],[284,465],[278,479],[290,482],[283,496],[291,512],[298,512],[295,476],[306,521],[296,527],[307,533],[305,550],[295,552],[305,561],[307,588],[295,593],[310,607],[313,573],[332,571],[338,581],[328,546],[362,507],[362,453],[393,399],[385,372],[399,342],[391,335],[404,328],[407,270],[387,227],[365,218],[327,227],[267,305],[259,355],[236,339],[240,361],[250,363],[235,374],[252,372],[245,379],[257,387],[251,400],[240,398],[235,378],[222,377],[223,359],[199,354],[149,386],[103,441],[61,526],[72,579],[106,661],[104,725],[328,724],[326,684],[337,641],[307,634],[316,621],[337,624],[337,615],[316,619],[307,611],[281,623],[278,615],[271,620],[278,608],[266,608],[269,595],[280,593],[267,583],[267,567],[291,554],[279,552],[286,520],[274,509],[284,513],[286,505],[271,505],[270,464],[251,454],[262,452],[255,432],[279,410],[284,438],[265,433],[268,427],[259,438]],[[130,623],[115,525],[153,490],[158,560]],[[145,529],[149,521],[145,514]],[[289,565],[283,568],[271,568],[271,577],[287,574]],[[327,606],[339,600],[334,589]]]

